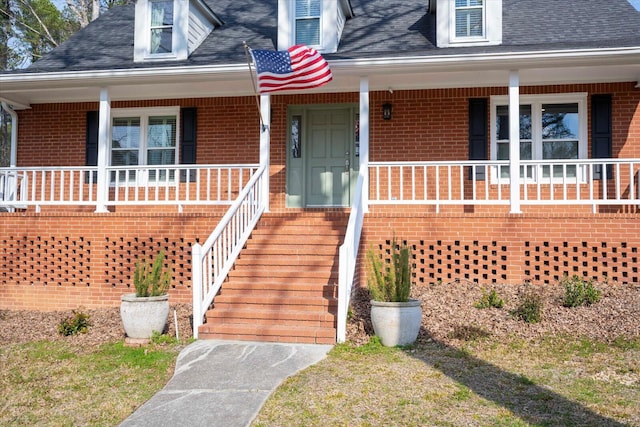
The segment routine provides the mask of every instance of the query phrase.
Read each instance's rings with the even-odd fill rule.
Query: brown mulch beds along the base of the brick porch
[[[419,340],[438,340],[450,344],[459,341],[465,331],[495,337],[535,338],[552,334],[584,336],[612,341],[624,336],[640,336],[640,285],[600,284],[602,299],[590,307],[566,308],[561,297],[564,289],[558,285],[535,286],[528,291],[539,292],[544,301],[542,321],[527,324],[510,315],[527,291],[525,285],[477,285],[456,281],[433,286],[414,287],[413,298],[422,301],[423,319]],[[502,309],[475,308],[483,291],[495,289],[504,300]],[[369,296],[357,289],[352,298],[352,316],[347,326],[347,338],[363,344],[373,334],[369,319]],[[180,338],[192,336],[191,306],[172,305],[167,333],[175,335],[174,309]],[[58,334],[60,322],[72,316],[72,311],[34,312],[0,310],[0,343],[35,340],[66,340],[79,346],[95,346],[124,338],[118,307],[82,309],[90,318],[86,334],[63,337]]]

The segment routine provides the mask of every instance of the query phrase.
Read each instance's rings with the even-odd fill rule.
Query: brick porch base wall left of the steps
[[[223,212],[2,214],[0,309],[117,306],[135,292],[137,257],[160,250],[173,268],[171,302],[190,303],[191,246]]]

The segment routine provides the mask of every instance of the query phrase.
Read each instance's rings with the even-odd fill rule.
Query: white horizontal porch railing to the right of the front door
[[[640,159],[526,160],[523,205],[640,204]],[[370,162],[371,204],[507,205],[508,161]]]

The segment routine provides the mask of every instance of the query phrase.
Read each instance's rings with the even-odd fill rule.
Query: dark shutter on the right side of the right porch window
[[[611,95],[591,96],[591,157],[610,159],[613,157]],[[611,179],[613,168],[607,166],[607,179]],[[602,179],[602,167],[594,168],[594,179]]]

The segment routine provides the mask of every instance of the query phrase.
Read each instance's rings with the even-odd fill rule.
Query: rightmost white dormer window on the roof
[[[502,0],[431,1],[437,5],[438,47],[502,43]]]

